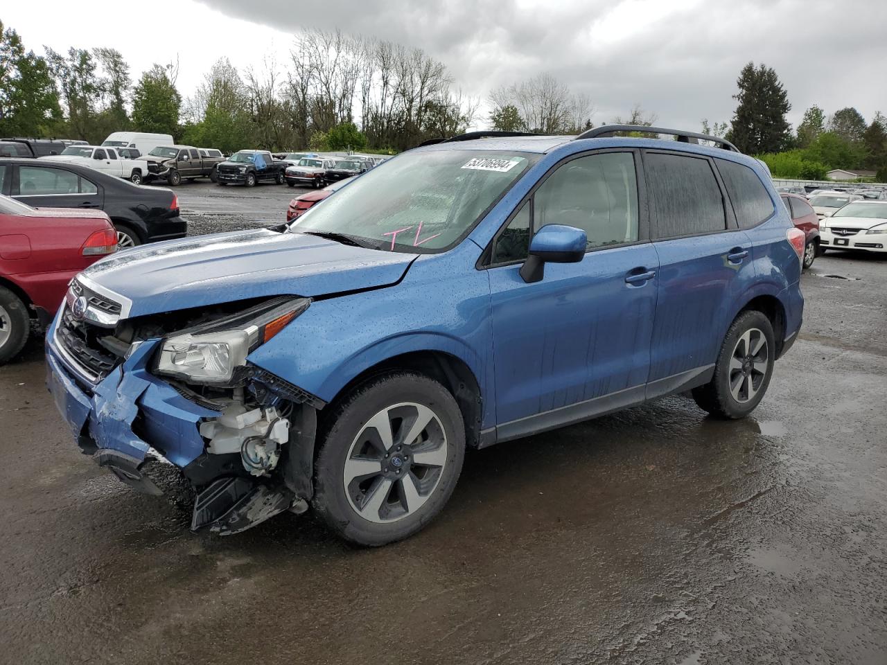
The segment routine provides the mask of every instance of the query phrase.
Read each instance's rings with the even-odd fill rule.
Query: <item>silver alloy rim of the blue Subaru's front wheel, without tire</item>
[[[376,524],[403,520],[428,501],[443,475],[447,440],[434,411],[392,404],[351,443],[342,480],[351,508]]]

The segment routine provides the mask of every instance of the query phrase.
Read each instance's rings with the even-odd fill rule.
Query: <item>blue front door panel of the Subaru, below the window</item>
[[[655,278],[626,284],[639,268],[658,268],[649,243],[548,263],[533,284],[488,271],[499,424],[647,382]]]

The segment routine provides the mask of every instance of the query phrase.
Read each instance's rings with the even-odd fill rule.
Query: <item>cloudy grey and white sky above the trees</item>
[[[106,0],[43,0],[35,7],[7,3],[0,15],[28,47],[114,47],[134,78],[153,61],[178,58],[184,96],[223,56],[246,67],[274,53],[284,68],[294,31],[322,27],[419,46],[478,98],[554,74],[590,95],[595,124],[635,104],[664,126],[729,121],[736,77],[749,60],[779,74],[792,124],[812,104],[827,113],[856,106],[867,120],[887,113],[884,0],[177,0],[139,12]]]

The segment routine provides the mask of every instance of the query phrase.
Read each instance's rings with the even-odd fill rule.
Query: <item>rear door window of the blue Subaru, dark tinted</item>
[[[724,196],[708,159],[647,153],[644,161],[657,238],[726,230]]]

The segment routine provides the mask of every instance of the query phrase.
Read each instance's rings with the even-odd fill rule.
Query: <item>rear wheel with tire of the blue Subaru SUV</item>
[[[753,309],[741,312],[726,332],[714,376],[693,389],[693,399],[716,418],[745,418],[764,399],[775,354],[770,319]]]

